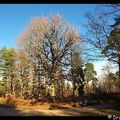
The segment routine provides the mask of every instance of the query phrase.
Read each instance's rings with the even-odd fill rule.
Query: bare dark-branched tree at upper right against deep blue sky
[[[120,66],[120,56],[119,56],[120,51],[118,47],[115,47],[115,45],[113,46],[109,44],[111,34],[114,29],[111,27],[112,25],[111,19],[113,19],[113,16],[115,14],[120,15],[119,5],[117,6],[113,5],[112,7],[114,8],[114,10],[111,9],[113,13],[110,13],[110,11],[101,11],[101,12],[95,11],[96,12],[95,14],[86,13],[86,18],[88,19],[88,24],[86,27],[87,28],[86,41],[92,44],[97,50],[100,51],[99,56],[101,58],[106,57],[109,61],[113,61],[114,63],[118,64],[118,66]],[[115,39],[114,41],[118,41],[118,40]],[[113,42],[113,36],[112,36],[112,42]],[[109,49],[106,50],[108,46]],[[110,46],[112,46],[112,48]],[[98,54],[96,55],[98,56]],[[120,73],[120,67],[119,67],[119,73]]]

